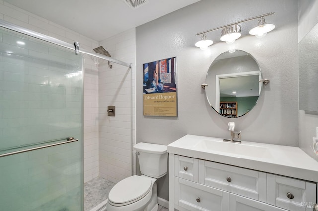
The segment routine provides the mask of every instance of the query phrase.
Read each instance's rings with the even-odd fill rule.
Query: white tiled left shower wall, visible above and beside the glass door
[[[62,40],[68,43],[74,43],[75,41],[78,41],[80,43],[80,48],[84,48],[86,50],[92,51],[92,49],[98,47],[98,42],[95,40],[84,37],[77,32],[74,32],[70,29],[62,27],[49,20],[46,20],[30,12],[27,12],[23,9],[20,9],[16,6],[13,6],[7,2],[3,2],[2,0],[0,0],[0,19],[10,22],[12,24],[48,35],[48,36],[57,38],[59,40]],[[85,70],[90,69],[90,70],[96,71],[97,68],[96,68],[96,65],[94,64],[93,58],[91,56],[86,56],[86,55],[84,56],[84,58],[85,58],[85,61],[84,61]],[[91,74],[89,73],[85,74],[84,81],[87,78],[88,78],[87,80],[91,81],[90,76]],[[96,78],[94,80],[96,80]],[[86,91],[86,88],[84,87],[84,93],[87,94],[92,92],[90,90]],[[98,90],[95,91],[93,95],[98,95]],[[85,113],[88,112],[91,115],[98,114],[98,110],[96,110],[95,107],[87,107],[84,109],[85,109]],[[87,168],[85,169],[85,173],[84,173],[85,181],[87,181],[87,179],[89,178],[94,178],[98,175],[98,162],[95,161],[96,155],[93,156],[93,154],[96,153],[95,142],[96,140],[98,140],[98,135],[96,136],[96,134],[98,134],[98,129],[94,129],[93,131],[91,128],[91,119],[86,119],[86,117],[87,115],[84,116],[84,128],[85,128],[84,129],[84,137],[85,137],[84,144],[85,146],[88,146],[88,149],[84,149],[85,168]],[[88,118],[93,118],[93,117],[89,116]]]

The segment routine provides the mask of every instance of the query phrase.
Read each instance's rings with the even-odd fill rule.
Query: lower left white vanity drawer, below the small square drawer
[[[174,177],[174,204],[182,211],[229,211],[229,193]]]

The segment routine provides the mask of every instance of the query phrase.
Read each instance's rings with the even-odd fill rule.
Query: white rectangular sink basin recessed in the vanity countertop
[[[272,158],[268,147],[253,144],[238,144],[216,140],[203,139],[194,145],[198,151],[214,151],[218,153],[236,154],[255,158]]]

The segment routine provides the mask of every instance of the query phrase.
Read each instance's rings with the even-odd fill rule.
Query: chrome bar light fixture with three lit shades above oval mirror
[[[240,38],[241,36],[241,27],[239,25],[239,23],[243,23],[243,22],[247,22],[250,20],[254,20],[254,19],[258,19],[258,26],[256,26],[255,28],[251,29],[249,31],[249,34],[251,35],[255,35],[257,38],[262,38],[264,37],[267,32],[272,31],[275,28],[274,24],[267,24],[265,22],[264,17],[269,16],[275,14],[275,12],[270,12],[270,13],[266,13],[263,15],[258,15],[256,17],[252,17],[252,18],[247,18],[245,20],[241,20],[241,21],[237,21],[228,25],[224,25],[224,26],[220,26],[220,27],[216,27],[213,29],[209,29],[203,32],[199,32],[196,35],[202,35],[201,40],[198,41],[195,46],[200,47],[200,49],[204,50],[207,49],[208,46],[213,44],[212,40],[208,40],[206,38],[206,33],[211,32],[211,31],[215,31],[218,29],[223,29],[221,32],[221,41],[224,41],[228,44],[232,44],[236,39]],[[207,42],[209,41],[209,42]]]

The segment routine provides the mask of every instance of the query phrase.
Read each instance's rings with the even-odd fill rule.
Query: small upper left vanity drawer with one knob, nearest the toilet
[[[174,155],[174,176],[199,182],[199,160]]]

